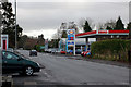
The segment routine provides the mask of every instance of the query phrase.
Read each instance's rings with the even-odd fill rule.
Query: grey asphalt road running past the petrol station
[[[19,50],[28,57],[26,50]],[[116,65],[95,63],[83,60],[67,59],[68,57],[38,53],[28,57],[38,62],[43,69],[34,76],[13,75],[15,85],[64,84],[64,85],[128,85],[129,69]]]

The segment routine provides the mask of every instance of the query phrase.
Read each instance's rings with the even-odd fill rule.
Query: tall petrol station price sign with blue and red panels
[[[75,55],[75,29],[68,29],[68,41],[67,41],[67,49],[68,47],[73,47],[73,53]]]

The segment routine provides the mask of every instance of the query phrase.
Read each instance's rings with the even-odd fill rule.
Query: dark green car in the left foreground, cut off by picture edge
[[[23,75],[33,75],[39,72],[38,63],[25,59],[24,57],[10,51],[2,51],[2,73],[20,73]]]

